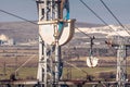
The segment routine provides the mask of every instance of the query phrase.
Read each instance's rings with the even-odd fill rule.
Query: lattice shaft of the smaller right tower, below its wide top
[[[127,79],[127,58],[126,58],[126,46],[119,45],[117,49],[117,87],[126,87]]]

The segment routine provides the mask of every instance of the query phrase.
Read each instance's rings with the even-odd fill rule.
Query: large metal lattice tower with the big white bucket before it
[[[39,14],[37,78],[41,87],[58,87],[63,71],[61,46],[72,39],[75,20],[69,20],[68,0],[37,0],[37,8]]]

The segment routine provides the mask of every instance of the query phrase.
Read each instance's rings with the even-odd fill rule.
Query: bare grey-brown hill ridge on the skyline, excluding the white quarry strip
[[[103,26],[91,23],[76,23],[77,27],[95,27]],[[26,42],[29,40],[38,40],[38,25],[28,22],[9,22],[0,23],[0,35],[4,34],[13,38],[16,42]]]

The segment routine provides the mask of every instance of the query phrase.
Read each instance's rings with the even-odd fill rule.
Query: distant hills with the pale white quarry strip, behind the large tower
[[[76,22],[76,27],[87,33],[90,37],[94,36],[96,38],[95,42],[100,41],[104,44],[105,39],[118,36],[118,34],[120,34],[123,37],[129,37],[129,35],[120,26],[109,26],[113,27],[113,29],[102,24]],[[127,25],[127,27],[130,27],[130,25]],[[2,34],[4,34],[9,38],[13,38],[16,41],[16,44],[30,41],[38,42],[38,25],[28,22],[0,23],[0,35]],[[86,45],[89,41],[90,39],[88,38],[88,36],[76,29],[75,36],[70,44]]]

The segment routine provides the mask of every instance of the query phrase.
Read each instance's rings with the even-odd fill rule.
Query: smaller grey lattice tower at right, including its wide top
[[[123,38],[118,37],[117,42],[112,42],[117,48],[117,87],[126,87],[127,82],[127,47],[130,47]]]

